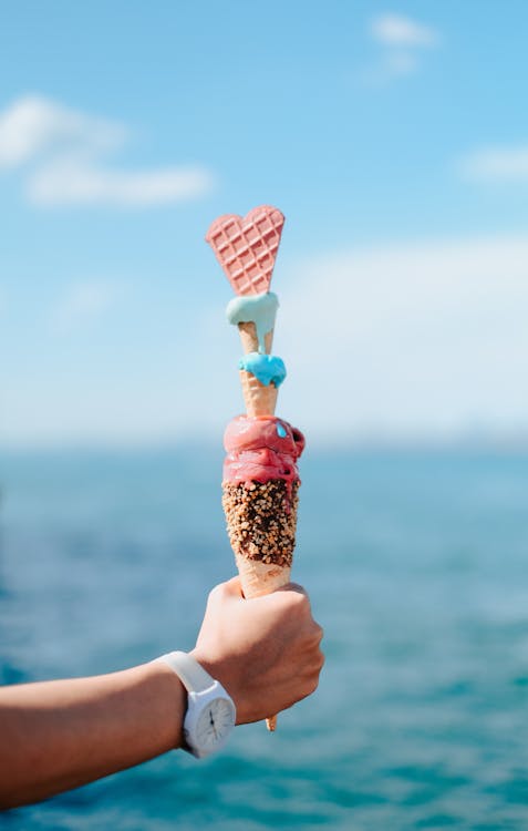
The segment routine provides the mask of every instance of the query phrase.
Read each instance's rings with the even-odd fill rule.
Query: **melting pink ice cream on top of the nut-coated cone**
[[[249,485],[280,479],[291,490],[299,481],[297,460],[304,450],[304,437],[283,419],[238,416],[226,428],[224,447],[225,482]]]

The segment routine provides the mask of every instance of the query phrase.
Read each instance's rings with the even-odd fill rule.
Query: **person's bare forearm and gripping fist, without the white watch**
[[[321,636],[300,587],[245,601],[234,578],[209,595],[191,654],[245,724],[315,689]],[[1,688],[0,806],[34,802],[180,747],[186,706],[182,683],[161,663]]]

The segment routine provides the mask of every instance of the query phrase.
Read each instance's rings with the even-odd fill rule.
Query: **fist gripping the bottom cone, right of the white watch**
[[[247,601],[234,577],[210,593],[191,655],[234,699],[237,724],[247,724],[314,691],[322,634],[301,586]]]

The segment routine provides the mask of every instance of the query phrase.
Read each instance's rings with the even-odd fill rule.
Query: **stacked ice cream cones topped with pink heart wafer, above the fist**
[[[279,301],[269,291],[284,217],[263,205],[246,217],[220,216],[206,239],[237,297],[227,307],[238,326],[246,416],[226,429],[222,504],[246,597],[268,594],[290,579],[296,544],[299,471],[304,438],[275,417],[282,360],[271,355]]]

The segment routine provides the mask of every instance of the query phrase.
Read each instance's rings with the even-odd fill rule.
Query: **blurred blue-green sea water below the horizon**
[[[0,460],[0,680],[187,649],[232,574],[220,454]],[[0,815],[17,831],[528,828],[528,454],[309,453],[294,577],[325,629],[314,696]]]

